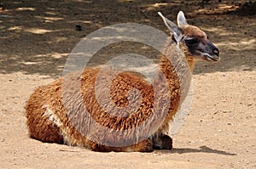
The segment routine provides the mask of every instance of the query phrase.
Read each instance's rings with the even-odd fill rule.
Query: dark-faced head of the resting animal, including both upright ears
[[[200,28],[189,25],[182,11],[177,14],[177,25],[166,19],[160,12],[167,28],[172,32],[172,40],[177,44],[181,43],[187,59],[204,59],[212,62],[218,61],[219,51],[207,38],[207,34]]]

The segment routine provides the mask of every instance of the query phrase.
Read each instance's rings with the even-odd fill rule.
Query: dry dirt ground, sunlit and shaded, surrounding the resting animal
[[[179,10],[207,31],[222,59],[196,65],[192,108],[172,150],[98,153],[28,137],[26,99],[61,76],[83,37],[125,22],[166,31],[157,11],[175,20]],[[256,168],[255,11],[253,1],[2,0],[0,168]]]

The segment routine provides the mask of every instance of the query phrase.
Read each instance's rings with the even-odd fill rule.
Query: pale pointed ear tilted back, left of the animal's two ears
[[[164,20],[164,23],[167,26],[167,28],[172,32],[172,35],[173,35],[175,41],[177,43],[181,42],[181,40],[183,38],[183,31],[172,21],[168,20],[163,14],[161,14],[160,12],[158,12],[158,14]]]

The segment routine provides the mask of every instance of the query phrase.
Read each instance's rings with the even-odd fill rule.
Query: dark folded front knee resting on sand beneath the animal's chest
[[[172,149],[172,138],[166,134],[155,134],[152,142],[154,149]]]

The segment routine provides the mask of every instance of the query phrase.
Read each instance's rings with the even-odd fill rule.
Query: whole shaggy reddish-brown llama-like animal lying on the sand
[[[188,93],[195,58],[219,58],[218,48],[208,41],[205,32],[187,24],[183,12],[177,15],[178,26],[160,16],[172,36],[166,42],[164,54],[159,56],[160,72],[153,82],[131,71],[112,79],[111,69],[98,78],[101,67],[94,67],[38,87],[25,107],[31,138],[96,151],[172,149],[172,138],[168,136],[170,121]],[[63,89],[64,81],[68,90]],[[96,83],[98,88],[110,84],[109,92],[102,90],[97,95]],[[109,99],[114,106],[109,106]],[[117,111],[119,114],[113,115]],[[141,127],[139,131],[132,130],[137,127]],[[124,136],[130,144],[124,143]]]

